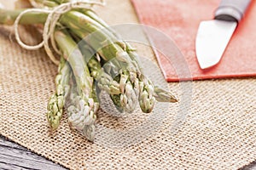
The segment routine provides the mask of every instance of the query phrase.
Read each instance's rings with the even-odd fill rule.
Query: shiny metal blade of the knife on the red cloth
[[[202,21],[197,31],[195,52],[201,69],[216,65],[224,54],[236,22],[224,20]]]

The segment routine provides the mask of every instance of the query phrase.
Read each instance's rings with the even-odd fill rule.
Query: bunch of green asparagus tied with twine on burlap
[[[69,0],[33,0],[32,6],[55,8]],[[0,23],[12,25],[24,9],[0,9]],[[23,25],[44,25],[48,14],[24,14]],[[67,109],[71,127],[87,139],[95,139],[96,112],[100,104],[96,89],[106,91],[116,108],[131,113],[137,102],[143,112],[153,110],[155,102],[177,102],[177,99],[143,73],[136,50],[99,18],[91,8],[73,8],[61,14],[55,31],[55,42],[61,50],[55,94],[49,98],[47,119],[55,130]],[[85,37],[85,38],[84,38]]]

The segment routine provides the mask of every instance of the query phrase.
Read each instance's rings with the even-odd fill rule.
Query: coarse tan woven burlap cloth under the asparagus
[[[137,22],[129,0],[107,2],[98,13],[109,24]],[[196,81],[193,93],[181,90],[181,82],[168,84],[179,103],[156,110],[166,113],[160,126],[152,123],[155,131],[135,143],[122,145],[122,135],[110,139],[114,133],[106,129],[125,132],[143,124],[147,114],[115,118],[100,111],[94,144],[71,131],[65,116],[51,133],[45,112],[57,67],[43,49],[20,48],[9,30],[0,29],[0,133],[29,150],[71,169],[237,169],[256,159],[255,78]],[[33,42],[31,31],[23,31]],[[139,50],[154,59],[150,50]],[[182,105],[184,93],[191,105]],[[172,131],[181,110],[188,115]]]

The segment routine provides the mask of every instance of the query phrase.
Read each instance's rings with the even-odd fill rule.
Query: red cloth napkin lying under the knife
[[[237,27],[218,65],[201,70],[195,56],[195,37],[201,20],[212,20],[220,0],[131,0],[139,20],[165,32],[183,54],[192,78],[209,79],[256,76],[256,1]],[[150,35],[148,35],[150,37]],[[154,38],[153,38],[154,41]],[[166,45],[160,40],[158,46]],[[187,79],[177,72],[163,54],[157,54],[168,82]]]

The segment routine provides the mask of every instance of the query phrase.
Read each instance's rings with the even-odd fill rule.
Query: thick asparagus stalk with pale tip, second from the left
[[[90,132],[94,129],[96,111],[99,108],[93,94],[93,78],[90,77],[90,71],[76,42],[73,41],[67,31],[55,31],[55,41],[71,65],[79,94],[74,99],[73,105],[67,108],[68,121],[87,139],[93,140],[94,135]]]

